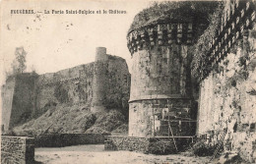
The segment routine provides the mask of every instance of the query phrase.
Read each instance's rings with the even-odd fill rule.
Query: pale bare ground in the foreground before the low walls
[[[209,163],[209,159],[132,151],[104,151],[101,144],[35,149],[35,160],[43,164],[205,164]]]

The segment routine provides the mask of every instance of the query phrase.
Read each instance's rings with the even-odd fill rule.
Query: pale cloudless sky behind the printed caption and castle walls
[[[147,1],[2,1],[0,17],[0,80],[23,46],[27,72],[54,73],[95,60],[96,47],[120,56],[131,65],[126,34],[136,14],[149,7]],[[35,14],[11,14],[11,10],[33,10]],[[50,14],[44,14],[44,10]],[[100,14],[51,14],[52,10],[91,10]],[[126,14],[102,14],[102,10]],[[41,13],[37,13],[41,12]]]

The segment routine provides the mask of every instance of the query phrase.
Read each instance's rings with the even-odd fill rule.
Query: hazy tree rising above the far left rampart
[[[13,74],[22,74],[26,70],[26,55],[24,47],[17,47],[15,50],[15,59],[12,63]]]

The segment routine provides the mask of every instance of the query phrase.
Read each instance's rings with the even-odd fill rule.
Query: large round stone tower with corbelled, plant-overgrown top
[[[133,61],[129,136],[193,136],[197,115],[190,73],[193,45],[217,4],[160,5],[139,13],[127,34]],[[160,8],[168,9],[164,16]]]

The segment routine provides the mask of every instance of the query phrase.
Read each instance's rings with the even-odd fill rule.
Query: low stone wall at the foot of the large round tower
[[[106,137],[105,150],[129,150],[153,154],[177,153],[184,150],[185,146],[192,141],[192,137]]]

